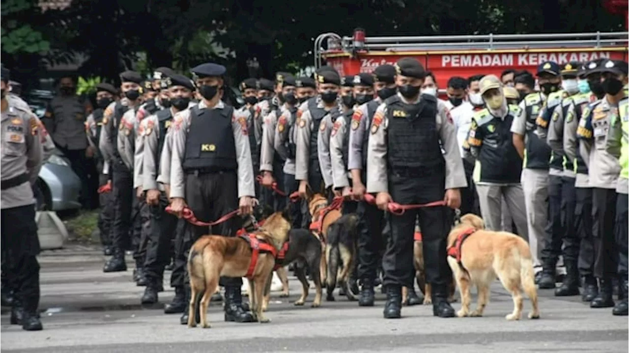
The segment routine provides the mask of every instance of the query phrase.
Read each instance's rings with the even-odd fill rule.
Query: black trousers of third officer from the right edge
[[[579,276],[594,276],[594,237],[592,236],[592,188],[575,188],[575,224],[579,243]]]

